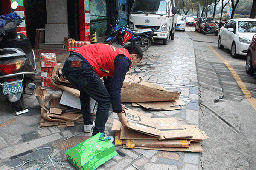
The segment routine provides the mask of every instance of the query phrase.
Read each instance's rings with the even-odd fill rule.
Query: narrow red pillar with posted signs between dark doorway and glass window
[[[79,0],[80,41],[90,41],[90,1]]]

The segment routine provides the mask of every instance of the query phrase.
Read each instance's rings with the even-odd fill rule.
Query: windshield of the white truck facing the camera
[[[166,1],[136,0],[131,13],[166,15]]]

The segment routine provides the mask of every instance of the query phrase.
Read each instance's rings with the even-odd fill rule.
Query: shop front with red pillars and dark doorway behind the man
[[[26,32],[24,34],[30,39],[32,46],[36,29],[53,27],[52,29],[56,29],[53,35],[60,34],[59,38],[62,39],[66,37],[67,28],[69,38],[90,41],[94,28],[97,37],[111,33],[109,24],[115,21],[114,16],[119,17],[120,25],[126,24],[127,20],[126,14],[122,12],[122,4],[126,0],[1,0],[1,14],[11,12],[10,4],[13,1],[19,3],[15,11],[26,17],[19,31]],[[133,0],[128,2],[132,3]]]

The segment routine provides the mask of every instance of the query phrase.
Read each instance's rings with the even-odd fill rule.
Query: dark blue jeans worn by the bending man
[[[71,67],[73,60],[81,61],[81,67]],[[66,60],[62,71],[68,81],[80,91],[84,125],[93,123],[90,109],[90,98],[93,98],[98,103],[93,135],[99,132],[104,133],[111,98],[102,80],[86,62],[76,55],[71,55]]]

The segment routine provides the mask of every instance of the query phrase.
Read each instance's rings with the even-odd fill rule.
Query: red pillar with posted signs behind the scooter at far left
[[[11,8],[11,3],[17,1],[19,6],[17,7],[17,9],[15,9],[15,12],[17,12],[18,15],[20,15],[20,17],[25,17],[25,8],[24,8],[24,2],[23,0],[2,0],[2,11],[3,14],[9,14],[10,12],[12,12],[12,8]],[[18,33],[22,33],[26,36],[26,21],[23,20],[22,23],[20,23],[20,27],[17,28],[17,32]]]

